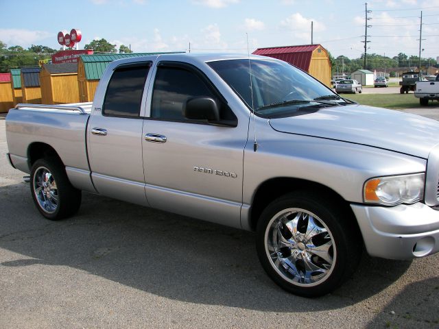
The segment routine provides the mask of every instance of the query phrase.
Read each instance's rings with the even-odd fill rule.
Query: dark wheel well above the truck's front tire
[[[328,186],[324,186],[317,182],[311,182],[309,180],[300,180],[298,178],[273,178],[263,182],[254,195],[252,207],[250,209],[250,227],[252,230],[256,230],[257,222],[261,213],[271,202],[274,201],[274,199],[298,190],[317,191],[318,194],[327,196],[328,199],[331,199],[332,202],[343,207],[346,213],[352,215],[353,219],[355,219],[355,215],[353,214],[348,202]],[[357,226],[359,232],[357,221],[355,221],[355,226]]]

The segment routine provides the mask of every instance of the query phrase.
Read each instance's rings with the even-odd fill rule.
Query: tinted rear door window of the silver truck
[[[149,66],[116,69],[108,83],[104,115],[139,117]]]

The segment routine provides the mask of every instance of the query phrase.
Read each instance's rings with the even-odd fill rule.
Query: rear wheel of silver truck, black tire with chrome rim
[[[81,191],[71,185],[57,158],[36,160],[30,174],[30,191],[40,214],[51,221],[74,215],[81,205]]]

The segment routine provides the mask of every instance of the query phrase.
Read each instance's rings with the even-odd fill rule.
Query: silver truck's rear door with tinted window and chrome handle
[[[87,128],[97,191],[145,206],[141,108],[149,72],[150,62],[117,66],[108,83],[102,115],[93,114]]]

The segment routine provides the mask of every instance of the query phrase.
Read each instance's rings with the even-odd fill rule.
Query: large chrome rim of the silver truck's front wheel
[[[337,251],[327,225],[305,209],[278,212],[265,230],[270,265],[289,283],[311,287],[331,275]]]

